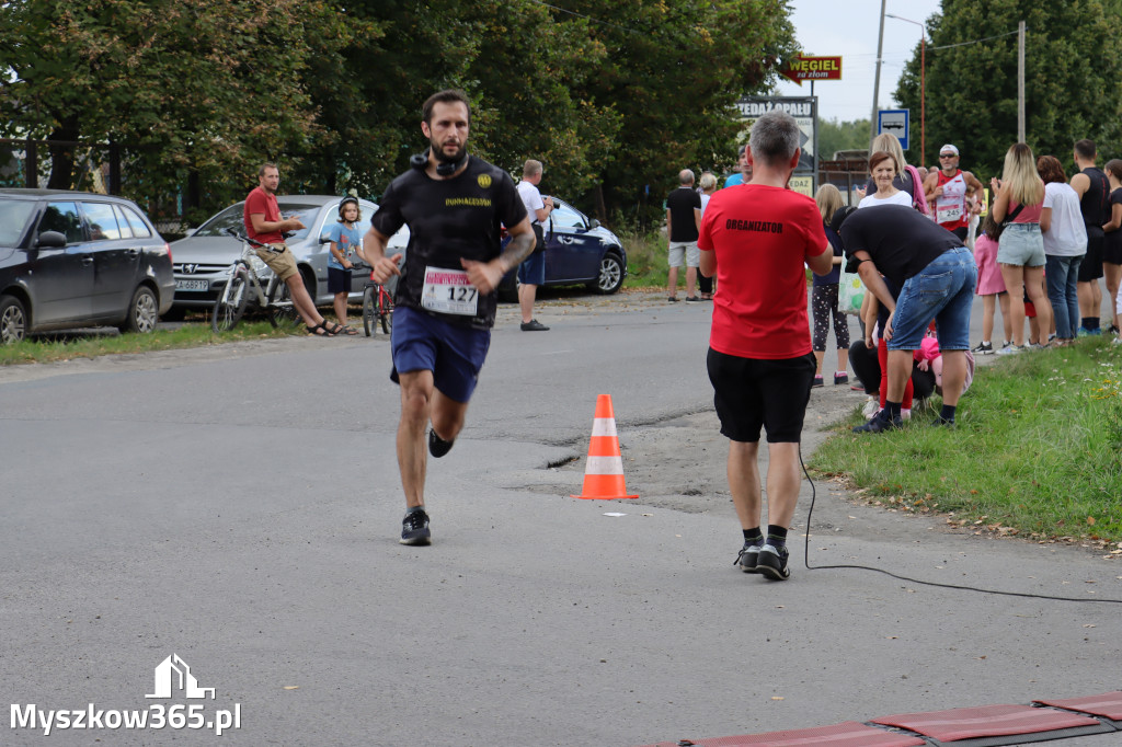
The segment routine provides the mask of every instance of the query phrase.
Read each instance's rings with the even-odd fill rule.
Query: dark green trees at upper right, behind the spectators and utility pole
[[[1105,157],[1122,151],[1122,48],[1118,0],[944,0],[927,26],[928,160],[954,142],[963,167],[983,178],[1000,175],[1017,140],[1017,31],[1027,26],[1026,139],[1037,155],[1072,166],[1072,145],[1091,138]],[[999,35],[978,44],[939,49]],[[920,110],[920,49],[908,63],[895,98]],[[917,141],[918,144],[918,141]],[[919,149],[908,153],[918,163]]]

